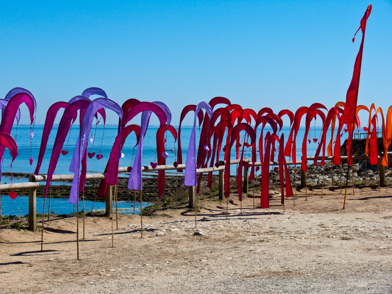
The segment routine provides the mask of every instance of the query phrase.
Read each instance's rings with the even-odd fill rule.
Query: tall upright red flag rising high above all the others
[[[344,112],[341,118],[342,123],[354,123],[355,121],[355,110],[357,107],[357,100],[358,100],[359,78],[361,76],[362,53],[364,50],[366,22],[368,21],[370,12],[371,12],[371,4],[368,6],[368,9],[366,9],[365,15],[361,20],[361,25],[355,33],[356,35],[357,32],[361,29],[362,42],[361,42],[361,46],[359,47],[357,58],[355,59],[354,72],[352,74],[351,83],[350,86],[348,87],[347,94],[346,94],[346,104],[344,106]],[[353,43],[355,41],[355,35],[354,38],[352,38]]]

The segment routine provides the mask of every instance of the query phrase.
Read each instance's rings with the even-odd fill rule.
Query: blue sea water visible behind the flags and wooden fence
[[[178,127],[175,127],[178,130]],[[12,162],[12,169],[11,169],[11,156],[9,154],[8,149],[5,150],[4,152],[4,159],[3,159],[3,164],[2,164],[2,172],[24,172],[24,173],[33,173],[36,165],[37,165],[37,158],[38,158],[38,153],[40,150],[41,146],[41,138],[42,138],[42,133],[43,133],[44,126],[43,125],[35,125],[34,128],[31,128],[29,125],[19,125],[15,126],[12,129],[11,135],[16,139],[16,143],[18,145],[18,157],[15,159],[14,162]],[[144,148],[143,148],[143,157],[142,157],[142,162],[143,165],[151,165],[151,162],[157,162],[157,154],[156,154],[156,131],[158,129],[158,126],[149,126],[147,129],[147,133],[144,139]],[[48,167],[49,167],[49,161],[51,157],[51,151],[53,148],[53,144],[56,138],[58,126],[53,126],[50,132],[49,136],[49,141],[48,145],[46,147],[46,152],[45,156],[41,165],[40,173],[47,173],[48,172]],[[183,163],[186,162],[186,156],[187,156],[187,151],[188,151],[188,145],[189,145],[189,140],[191,136],[191,131],[192,127],[191,126],[182,126],[181,127],[181,146],[182,146],[182,157],[183,157]],[[265,128],[264,134],[267,133],[267,131],[270,131],[268,127]],[[30,140],[30,132],[32,132],[34,135],[32,139]],[[103,126],[101,124],[98,125],[93,125],[91,128],[91,132],[89,134],[89,140],[88,140],[88,152],[95,152],[97,154],[102,154],[103,157],[101,159],[97,159],[96,156],[93,158],[88,158],[87,159],[87,172],[88,173],[94,173],[94,172],[103,172],[107,163],[107,160],[109,158],[109,154],[111,151],[111,148],[113,146],[115,137],[118,132],[118,126],[117,125],[106,125]],[[289,127],[283,127],[282,130],[280,131],[280,134],[284,133],[285,135],[285,142],[287,141],[287,138],[289,137],[290,134],[290,128]],[[301,147],[302,147],[302,141],[303,141],[303,136],[305,133],[305,128],[300,127],[299,128],[299,133],[296,138],[296,153],[297,153],[297,160],[300,160],[300,155],[301,155]],[[77,140],[77,137],[79,135],[79,126],[78,125],[73,125],[71,128],[71,131],[67,135],[67,138],[65,140],[63,150],[69,151],[68,154],[62,155],[60,154],[60,157],[58,158],[58,163],[55,169],[55,174],[71,174],[69,172],[69,166],[71,162],[71,158],[73,155],[73,150],[75,148],[75,142]],[[258,128],[258,136],[260,135],[260,127]],[[94,139],[92,139],[94,137]],[[196,146],[198,146],[198,138],[200,137],[200,129],[196,128]],[[175,140],[170,132],[166,133],[165,138],[167,139],[166,142],[166,150],[169,156],[166,159],[167,164],[173,164],[177,160],[177,145],[175,143]],[[242,138],[242,137],[241,137]],[[258,138],[258,137],[257,137]],[[313,138],[318,139],[317,142],[315,143],[313,141]],[[307,155],[312,156],[315,154],[316,149],[318,147],[319,141],[321,138],[321,127],[312,127],[310,130],[310,134],[306,140],[310,139],[311,142],[307,143]],[[330,138],[330,135],[327,136],[327,138]],[[90,141],[91,139],[91,141]],[[345,138],[342,138],[342,142]],[[328,140],[327,140],[328,141]],[[225,139],[224,139],[225,142]],[[308,142],[308,141],[307,141]],[[123,158],[120,159],[120,167],[128,167],[132,166],[137,148],[138,146],[136,145],[136,136],[134,133],[131,133],[128,138],[125,141],[125,144],[123,146]],[[224,144],[223,144],[224,145]],[[257,144],[256,144],[257,145]],[[250,157],[250,152],[246,151],[244,154],[244,157]],[[33,158],[33,163],[30,166],[29,164],[29,158]],[[235,153],[235,148],[233,147],[231,150],[231,158],[234,159],[236,158],[236,153]],[[222,159],[222,154],[221,154],[221,159]],[[287,158],[288,159],[288,158]],[[258,159],[259,161],[260,159]],[[276,160],[276,159],[275,159]],[[234,170],[234,169],[233,169]],[[125,175],[126,176],[126,175]],[[17,182],[26,182],[27,179],[22,178],[22,179],[13,179],[13,183]],[[2,177],[2,183],[10,183],[11,179],[9,177]],[[44,183],[42,183],[44,184]],[[60,185],[60,184],[67,184],[66,182],[52,182],[52,185]],[[68,183],[69,184],[69,183]],[[2,214],[3,215],[25,215],[27,214],[27,208],[28,208],[28,202],[27,202],[27,197],[22,197],[27,195],[27,190],[19,190],[18,196],[15,200],[12,200],[8,196],[2,196],[1,197],[1,206],[2,206]],[[38,207],[38,203],[42,200],[42,198],[37,197],[37,212],[40,212],[42,210],[42,205],[41,205],[41,210]],[[48,202],[48,201],[47,201]],[[85,202],[86,203],[86,202]],[[89,204],[90,205],[90,204]],[[94,208],[100,209],[101,205],[104,205],[104,203],[98,203],[94,205]],[[128,207],[130,211],[133,212],[133,202],[123,202],[121,205],[124,205],[123,207]],[[145,204],[145,205],[148,205]],[[92,203],[91,203],[92,206]],[[86,206],[86,211],[89,209]],[[73,211],[73,204],[68,203],[68,198],[52,198],[51,199],[51,211],[54,211],[56,214],[62,214],[62,213],[72,213]],[[103,208],[103,207],[102,207]]]

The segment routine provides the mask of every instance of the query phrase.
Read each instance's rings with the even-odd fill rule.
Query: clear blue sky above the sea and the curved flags
[[[370,3],[358,103],[375,102],[386,112],[386,0],[1,1],[0,96],[14,87],[30,90],[37,123],[53,102],[88,87],[104,89],[120,105],[161,100],[174,125],[184,106],[215,96],[256,112],[314,102],[329,108],[345,100],[362,35],[351,39]]]

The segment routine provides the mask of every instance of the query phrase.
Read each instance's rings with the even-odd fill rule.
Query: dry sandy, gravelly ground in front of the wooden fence
[[[304,192],[304,190],[302,190]],[[0,293],[392,293],[392,189],[340,189],[253,209],[198,202],[155,217],[86,219],[76,259],[76,218],[41,233],[0,231]],[[256,205],[259,198],[256,196]],[[295,204],[295,205],[294,205]],[[80,238],[83,221],[80,220]]]

